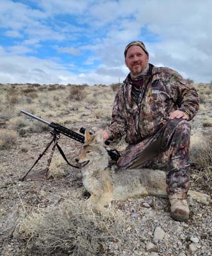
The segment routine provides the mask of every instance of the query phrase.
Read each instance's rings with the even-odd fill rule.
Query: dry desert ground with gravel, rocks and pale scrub
[[[190,187],[212,196],[212,83],[194,86],[201,104],[191,121]],[[110,124],[117,87],[0,84],[0,255],[212,255],[211,205],[188,199],[188,222],[171,219],[168,200],[157,197],[112,202],[107,214],[95,214],[86,208],[80,170],[57,149],[47,179],[20,180],[52,139],[46,124],[21,109],[94,132]],[[75,163],[82,144],[61,135],[59,145]],[[109,147],[122,152],[126,145]],[[31,174],[46,169],[50,153]]]

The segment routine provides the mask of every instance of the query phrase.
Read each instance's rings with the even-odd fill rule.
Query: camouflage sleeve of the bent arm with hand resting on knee
[[[170,84],[173,101],[178,106],[178,110],[189,116],[190,121],[200,108],[200,98],[195,87],[186,84],[186,80],[176,71],[171,74]]]

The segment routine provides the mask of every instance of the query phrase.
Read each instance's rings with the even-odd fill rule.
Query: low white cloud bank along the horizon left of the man
[[[117,76],[90,71],[74,74],[56,61],[7,54],[0,47],[1,83],[39,84],[111,84],[118,82]]]

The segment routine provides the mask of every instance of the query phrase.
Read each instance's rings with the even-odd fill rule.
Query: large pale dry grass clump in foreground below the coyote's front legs
[[[75,199],[65,199],[46,209],[26,209],[20,213],[16,233],[27,240],[31,250],[43,254],[92,256],[104,250],[104,240],[121,234],[120,215],[98,215]],[[57,255],[57,254],[56,254]]]

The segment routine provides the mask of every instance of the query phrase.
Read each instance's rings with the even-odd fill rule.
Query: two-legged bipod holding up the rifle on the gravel
[[[58,140],[60,139],[60,134],[58,132],[56,132],[55,130],[50,132],[53,135],[53,139],[51,140],[51,142],[49,142],[49,144],[47,144],[46,149],[44,149],[44,151],[42,152],[42,154],[39,155],[39,157],[37,158],[36,162],[34,162],[34,164],[32,165],[31,169],[28,170],[28,172],[24,175],[24,177],[22,177],[20,180],[24,181],[27,177],[27,175],[29,174],[29,172],[31,172],[32,168],[37,164],[37,162],[39,162],[39,160],[41,159],[41,157],[46,153],[46,151],[49,149],[49,147],[51,146],[52,143],[54,143],[52,150],[51,150],[51,154],[49,159],[47,160],[47,167],[44,171],[40,172],[39,174],[35,174],[35,175],[31,175],[31,179],[33,180],[37,180],[37,179],[46,179],[48,173],[49,173],[49,166],[51,164],[51,160],[54,154],[54,150],[55,147],[57,145]]]

